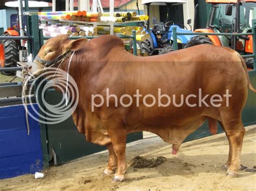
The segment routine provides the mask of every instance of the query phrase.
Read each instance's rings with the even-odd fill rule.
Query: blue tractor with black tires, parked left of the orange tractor
[[[166,3],[167,1],[163,2]],[[150,4],[152,4],[152,0],[144,0],[143,4],[146,5],[147,13],[149,15],[149,7]],[[167,4],[167,8],[169,6]],[[146,31],[146,33],[150,34],[150,38],[147,38],[144,41],[140,41],[139,43],[140,52],[146,55],[165,54],[173,51],[173,27],[177,27],[177,32],[191,32],[192,30],[188,30],[184,24],[176,24],[172,21],[168,21],[168,19],[165,23],[153,22],[153,28],[149,29],[149,20],[147,20],[147,27],[144,27],[144,30]],[[191,27],[191,19],[187,20],[187,24]],[[183,48],[187,44],[187,41],[190,40],[192,37],[193,36],[191,35],[179,35],[177,37],[178,48]]]

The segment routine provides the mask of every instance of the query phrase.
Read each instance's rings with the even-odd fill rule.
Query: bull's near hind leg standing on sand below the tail
[[[245,128],[241,121],[241,115],[237,117],[223,117],[224,130],[230,144],[228,160],[226,162],[228,176],[237,176],[240,167],[240,155]]]

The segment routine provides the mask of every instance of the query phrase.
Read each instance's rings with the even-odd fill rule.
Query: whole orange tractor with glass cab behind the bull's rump
[[[250,33],[252,19],[256,18],[256,0],[206,0],[212,4],[205,29],[194,32]],[[213,44],[235,49],[242,55],[253,53],[252,36],[198,36],[190,39],[186,47]],[[247,67],[253,69],[253,58],[245,59]]]

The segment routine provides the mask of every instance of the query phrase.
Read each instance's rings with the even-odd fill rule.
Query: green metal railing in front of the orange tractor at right
[[[249,58],[253,57],[254,58],[254,70],[256,69],[256,54],[255,54],[255,46],[256,46],[256,19],[252,20],[252,32],[250,33],[208,33],[208,32],[177,32],[177,27],[172,28],[173,31],[173,49],[176,51],[178,49],[178,41],[177,41],[177,36],[179,35],[197,35],[197,36],[247,36],[247,35],[253,35],[253,54],[248,54],[248,55],[242,55],[243,58]]]

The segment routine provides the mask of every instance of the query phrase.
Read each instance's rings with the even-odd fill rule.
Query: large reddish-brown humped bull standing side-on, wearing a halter
[[[173,144],[173,154],[176,154],[183,140],[206,119],[212,133],[217,131],[217,121],[223,127],[230,145],[224,167],[229,176],[237,175],[245,134],[241,112],[248,87],[256,92],[245,62],[237,52],[200,45],[169,54],[139,57],[126,52],[123,41],[115,36],[106,35],[85,42],[86,39],[69,40],[68,36],[60,35],[48,40],[38,56],[53,60],[66,51],[76,51],[69,69],[79,88],[73,121],[87,141],[107,146],[109,164],[104,173],[115,173],[113,181],[125,179],[128,133],[156,133],[165,142]],[[43,63],[33,63],[30,72],[45,67]],[[67,71],[68,63],[69,59],[66,59],[60,68]],[[173,105],[173,98],[173,104],[166,106],[168,98],[161,97],[152,105],[152,96],[159,97],[159,89],[161,95],[176,95],[177,104],[181,103],[183,95],[188,104]],[[135,96],[137,90],[138,97]],[[107,97],[107,91],[111,97]],[[201,96],[208,97],[200,100],[200,91]],[[147,94],[152,96],[144,100]],[[119,103],[122,95],[126,95],[123,97],[125,105]],[[214,95],[221,96],[212,99]],[[215,104],[211,104],[212,100]]]

